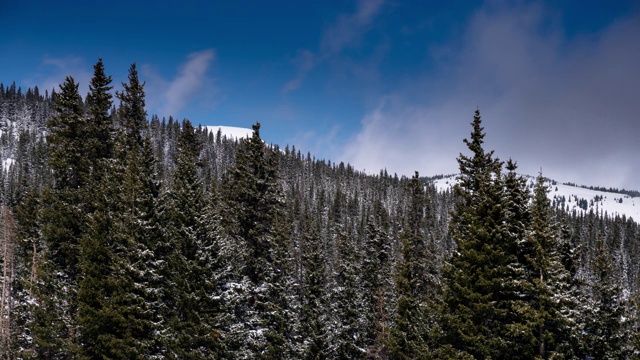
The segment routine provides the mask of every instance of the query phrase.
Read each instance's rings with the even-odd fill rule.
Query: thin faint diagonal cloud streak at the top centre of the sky
[[[320,63],[339,55],[343,50],[357,46],[380,12],[384,0],[360,0],[356,11],[339,16],[336,22],[323,32],[320,47],[316,52],[300,50],[293,59],[296,76],[288,81],[282,93],[296,90]]]

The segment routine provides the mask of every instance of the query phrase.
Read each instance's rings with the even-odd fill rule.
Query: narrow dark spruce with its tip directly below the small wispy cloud
[[[169,349],[179,358],[217,357],[215,309],[215,242],[201,224],[206,202],[197,162],[201,144],[188,120],[182,124],[172,187],[165,194],[164,223],[173,248],[168,261],[164,319]],[[205,251],[208,250],[208,251]],[[213,251],[214,253],[210,253]]]

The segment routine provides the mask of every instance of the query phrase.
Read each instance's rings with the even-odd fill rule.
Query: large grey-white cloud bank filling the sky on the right
[[[347,160],[373,172],[455,172],[479,106],[487,146],[522,171],[640,188],[640,15],[575,37],[558,19],[536,4],[483,6],[439,75],[416,76],[369,111]],[[422,103],[407,102],[421,91]]]

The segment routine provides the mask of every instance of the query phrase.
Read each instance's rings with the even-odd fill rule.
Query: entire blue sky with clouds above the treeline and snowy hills
[[[454,173],[479,108],[522,172],[640,189],[636,1],[0,1],[0,82],[86,93],[357,169]]]

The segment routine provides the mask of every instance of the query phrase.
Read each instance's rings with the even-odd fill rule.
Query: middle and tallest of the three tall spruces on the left
[[[123,269],[128,264],[122,259],[122,230],[116,219],[122,213],[122,204],[116,186],[122,181],[117,164],[113,161],[114,128],[110,111],[109,90],[111,77],[104,73],[102,60],[94,66],[94,76],[87,95],[87,124],[84,154],[90,161],[91,178],[86,186],[87,224],[80,243],[80,270],[82,277],[78,290],[78,322],[82,354],[111,358],[131,358],[124,343],[128,337],[127,312],[122,297],[130,289],[122,281]],[[118,185],[116,185],[118,184]]]

